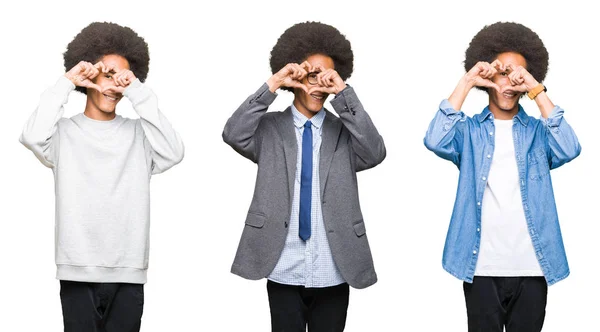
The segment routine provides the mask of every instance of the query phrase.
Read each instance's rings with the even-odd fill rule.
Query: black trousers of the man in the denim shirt
[[[469,332],[539,332],[546,317],[544,277],[475,277],[464,283]]]

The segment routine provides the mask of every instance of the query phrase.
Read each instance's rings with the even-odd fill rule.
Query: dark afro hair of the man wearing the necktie
[[[275,74],[288,63],[302,63],[314,54],[330,57],[344,81],[352,75],[354,54],[350,41],[336,28],[320,22],[298,23],[285,30],[271,50],[271,71]]]

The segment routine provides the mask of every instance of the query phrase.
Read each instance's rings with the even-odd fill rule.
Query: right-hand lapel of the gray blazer
[[[342,130],[342,122],[334,121],[334,119],[337,119],[335,115],[326,111],[325,120],[323,120],[323,132],[321,134],[322,139],[319,161],[321,198],[324,197],[325,185],[327,184],[327,176],[329,175],[329,168],[331,167],[331,161],[333,160],[333,153],[337,147],[340,131]]]

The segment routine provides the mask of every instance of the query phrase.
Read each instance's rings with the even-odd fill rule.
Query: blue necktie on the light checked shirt
[[[302,133],[302,169],[300,171],[300,238],[310,237],[310,210],[312,201],[312,127],[304,123]]]

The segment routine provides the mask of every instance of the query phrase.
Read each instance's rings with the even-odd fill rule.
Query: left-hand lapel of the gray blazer
[[[277,117],[277,127],[281,138],[283,139],[283,151],[285,163],[287,165],[288,186],[290,192],[290,202],[294,198],[294,181],[296,179],[296,161],[298,158],[298,142],[294,128],[294,119],[292,109],[288,107],[283,111],[282,116]]]

